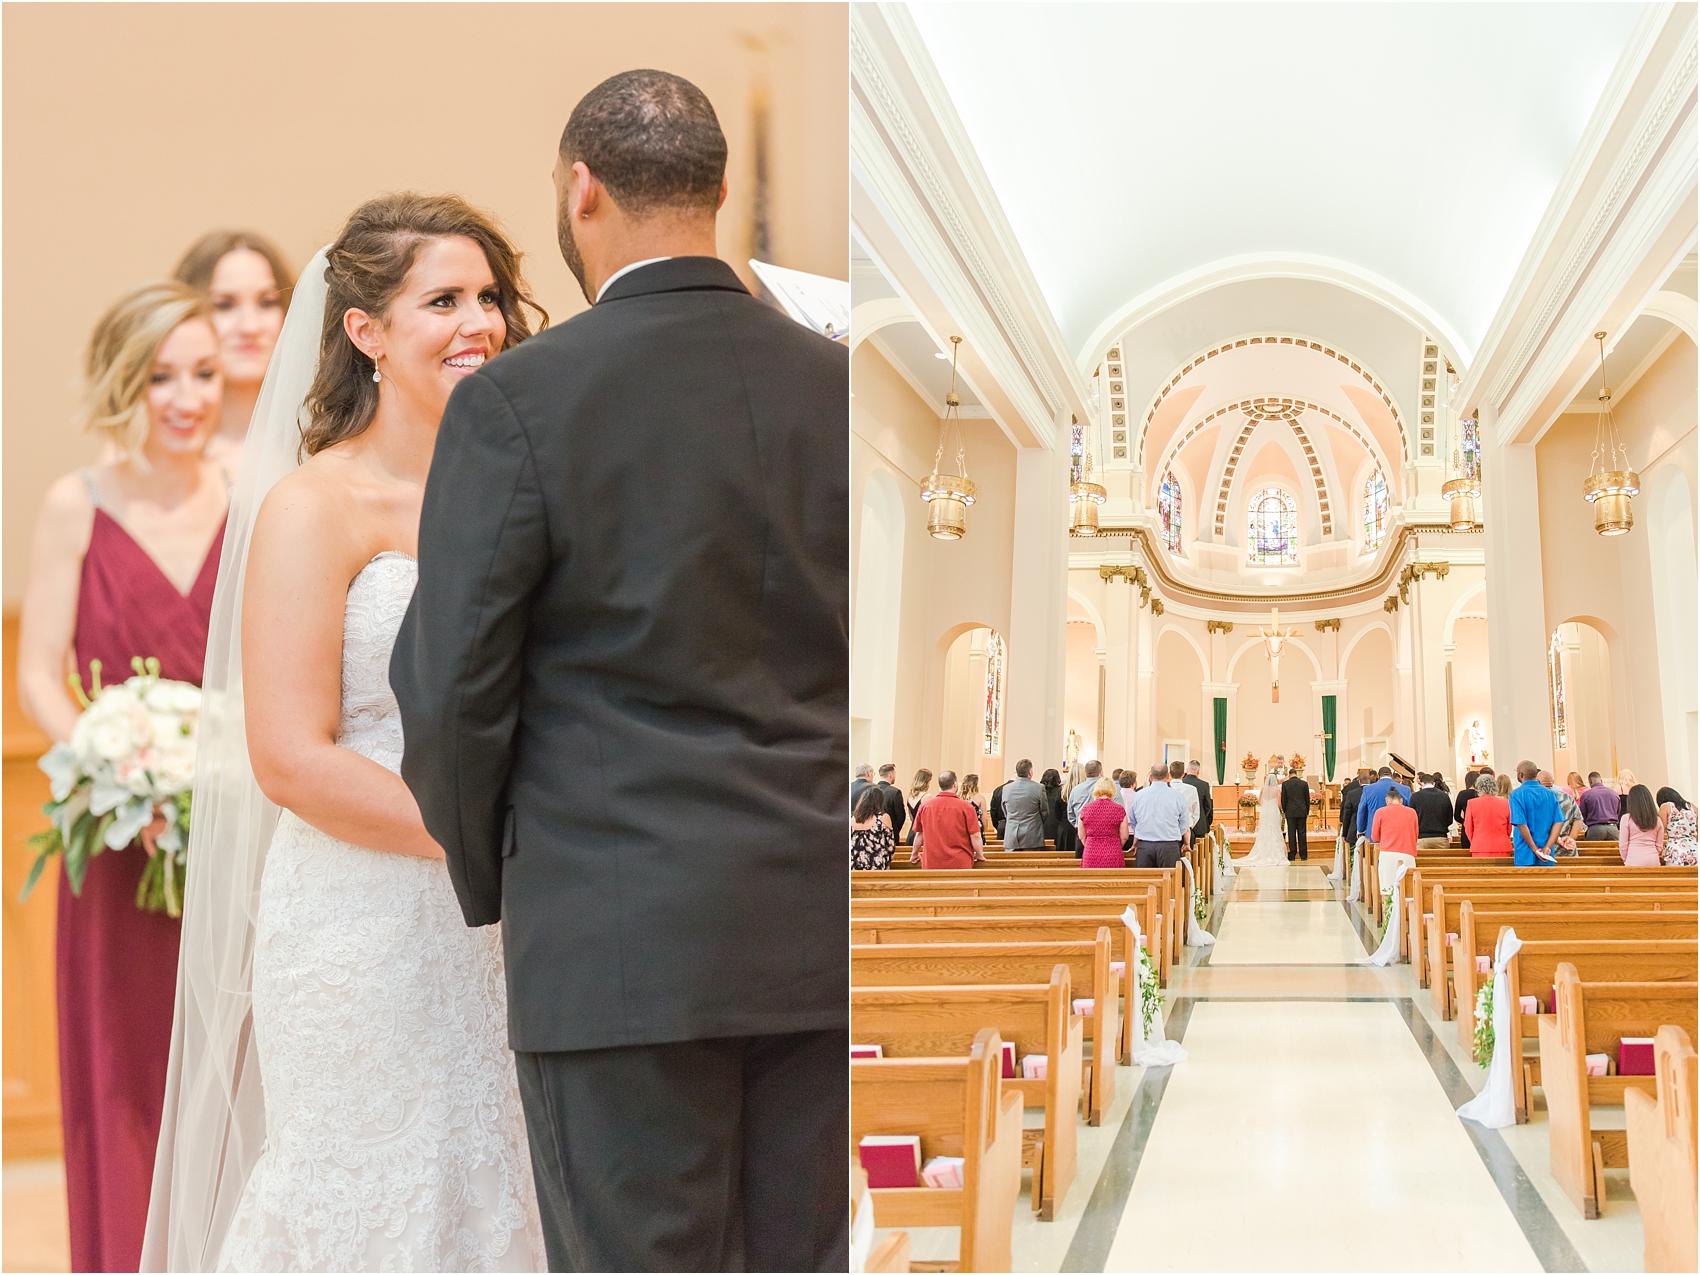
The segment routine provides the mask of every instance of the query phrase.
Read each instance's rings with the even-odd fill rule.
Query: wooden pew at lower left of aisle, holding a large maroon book
[[[850,1146],[869,1134],[921,1139],[921,1161],[962,1156],[962,1187],[870,1192],[874,1222],[957,1226],[957,1270],[1010,1270],[1015,1197],[1022,1193],[1022,1095],[1003,1085],[1003,1039],[984,1027],[960,1057],[850,1064]]]

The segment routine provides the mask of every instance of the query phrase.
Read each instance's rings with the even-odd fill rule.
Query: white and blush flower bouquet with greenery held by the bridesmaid
[[[92,661],[92,699],[71,675],[83,711],[70,741],[53,745],[39,762],[53,790],[41,813],[53,826],[31,838],[39,855],[19,901],[53,855],[65,855],[71,892],[82,894],[88,860],[133,845],[158,814],[165,831],[148,853],[136,906],[182,916],[201,690],[162,678],[158,660],[133,660],[131,668],[134,677],[102,688],[100,661]]]

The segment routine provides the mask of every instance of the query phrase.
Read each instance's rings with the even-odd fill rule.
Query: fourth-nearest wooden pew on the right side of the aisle
[[[1618,869],[1637,874],[1658,874],[1666,869]],[[1674,870],[1674,869],[1671,869]],[[1411,947],[1413,962],[1421,962],[1423,978],[1420,983],[1430,989],[1435,1010],[1443,1018],[1452,1018],[1454,1006],[1448,1000],[1452,991],[1450,969],[1452,952],[1447,947],[1447,935],[1459,933],[1459,906],[1464,899],[1476,899],[1477,911],[1482,906],[1515,906],[1516,899],[1569,899],[1578,904],[1588,899],[1615,899],[1605,904],[1606,910],[1620,906],[1625,899],[1642,898],[1649,904],[1688,908],[1700,899],[1693,877],[1646,877],[1624,879],[1620,876],[1598,877],[1593,874],[1556,874],[1552,869],[1510,869],[1515,876],[1482,879],[1477,876],[1438,876],[1418,872],[1418,886],[1428,891],[1430,911],[1420,918],[1413,898],[1406,906],[1408,930],[1418,937]],[[1542,874],[1542,876],[1535,876]],[[1409,874],[1408,874],[1409,876]]]

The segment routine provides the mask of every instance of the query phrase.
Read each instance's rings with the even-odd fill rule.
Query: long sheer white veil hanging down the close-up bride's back
[[[325,248],[296,284],[241,449],[219,556],[202,680],[172,1062],[153,1166],[143,1270],[212,1270],[265,1141],[253,1052],[253,916],[277,808],[248,765],[241,712],[241,592],[253,515],[298,466],[301,408],[318,371]]]

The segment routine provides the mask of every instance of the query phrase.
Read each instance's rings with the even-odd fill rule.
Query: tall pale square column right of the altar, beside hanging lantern
[[[1501,445],[1496,413],[1488,405],[1481,413],[1488,685],[1493,690],[1489,760],[1496,772],[1523,760],[1547,767],[1552,763],[1552,729],[1535,445]]]

